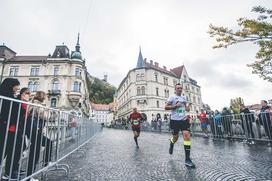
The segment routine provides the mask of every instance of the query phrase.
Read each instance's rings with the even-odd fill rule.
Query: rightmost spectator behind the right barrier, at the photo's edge
[[[271,110],[271,107],[267,105],[267,101],[265,100],[261,101],[261,105],[262,105],[262,108],[258,115],[259,122],[261,125],[263,125],[265,134],[270,140],[270,143],[272,143],[272,124],[270,119],[272,110]]]

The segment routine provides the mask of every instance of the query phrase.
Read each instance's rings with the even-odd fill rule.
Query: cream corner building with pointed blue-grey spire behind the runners
[[[169,96],[174,95],[174,86],[183,85],[183,95],[191,104],[191,114],[202,107],[201,89],[195,80],[189,77],[185,66],[168,70],[159,63],[147,62],[139,52],[136,68],[130,70],[117,89],[117,117],[128,118],[134,107],[151,121],[158,113],[168,117],[164,110]]]

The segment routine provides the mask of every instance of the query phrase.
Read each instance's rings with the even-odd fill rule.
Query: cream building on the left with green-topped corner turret
[[[52,55],[17,56],[5,45],[0,46],[1,82],[6,77],[17,78],[20,87],[29,87],[47,94],[46,105],[89,116],[87,69],[82,59],[79,37],[75,51],[66,45],[56,46]]]

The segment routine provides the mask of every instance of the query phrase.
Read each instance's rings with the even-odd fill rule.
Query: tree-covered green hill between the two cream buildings
[[[114,86],[97,78],[93,82],[87,81],[87,84],[91,102],[96,104],[109,104],[113,102],[113,95],[116,91]]]

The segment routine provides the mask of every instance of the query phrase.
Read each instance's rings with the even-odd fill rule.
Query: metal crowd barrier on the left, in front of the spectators
[[[79,150],[101,125],[57,109],[0,96],[0,176],[27,181],[62,170],[60,163]]]

